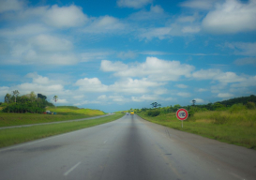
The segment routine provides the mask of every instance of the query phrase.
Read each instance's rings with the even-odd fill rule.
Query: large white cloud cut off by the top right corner
[[[215,34],[230,34],[256,29],[256,1],[242,3],[238,0],[226,0],[218,4],[203,19],[203,29]]]

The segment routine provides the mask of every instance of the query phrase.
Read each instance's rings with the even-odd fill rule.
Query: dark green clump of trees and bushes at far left
[[[47,101],[47,97],[35,94],[19,96],[18,90],[12,91],[12,94],[5,96],[5,102],[1,104],[4,113],[44,113],[47,106],[54,106],[53,103]]]

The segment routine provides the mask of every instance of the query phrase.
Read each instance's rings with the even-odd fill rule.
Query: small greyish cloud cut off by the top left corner
[[[9,10],[20,10],[23,8],[23,1],[19,0],[0,0],[0,13]]]

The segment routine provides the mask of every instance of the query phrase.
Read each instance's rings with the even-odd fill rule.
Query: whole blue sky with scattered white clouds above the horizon
[[[256,0],[0,0],[0,101],[115,112],[256,94]]]

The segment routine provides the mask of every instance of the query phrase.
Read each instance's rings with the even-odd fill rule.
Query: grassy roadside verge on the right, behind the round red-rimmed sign
[[[137,113],[143,119],[169,128],[191,132],[224,143],[233,143],[256,150],[256,111],[234,112],[208,111],[195,113],[183,122],[177,120],[175,113],[161,113],[156,117],[147,113]]]

